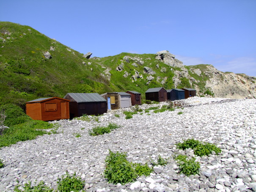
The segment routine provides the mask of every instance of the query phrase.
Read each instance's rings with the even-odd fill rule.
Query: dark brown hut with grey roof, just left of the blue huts
[[[167,91],[164,88],[149,88],[146,92],[146,100],[167,101]]]

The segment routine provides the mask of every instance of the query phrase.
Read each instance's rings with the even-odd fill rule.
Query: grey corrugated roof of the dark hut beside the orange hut
[[[71,96],[77,103],[107,101],[98,93],[67,93],[67,95]]]

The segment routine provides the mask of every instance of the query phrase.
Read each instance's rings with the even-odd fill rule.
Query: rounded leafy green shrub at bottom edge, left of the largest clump
[[[58,191],[59,192],[85,192],[85,181],[82,181],[81,177],[77,177],[76,173],[72,176],[69,175],[69,172],[66,171],[66,174],[61,178],[58,178]]]

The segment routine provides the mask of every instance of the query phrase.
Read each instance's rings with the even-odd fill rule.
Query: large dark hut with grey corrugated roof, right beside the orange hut
[[[70,117],[86,115],[102,115],[107,112],[107,100],[98,93],[67,93]]]

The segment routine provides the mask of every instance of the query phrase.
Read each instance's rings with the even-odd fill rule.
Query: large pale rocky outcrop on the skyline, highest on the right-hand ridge
[[[175,59],[175,55],[171,54],[168,51],[157,52],[155,58],[157,60],[161,60],[163,63],[165,63],[171,67],[181,68],[183,66],[182,61]]]

